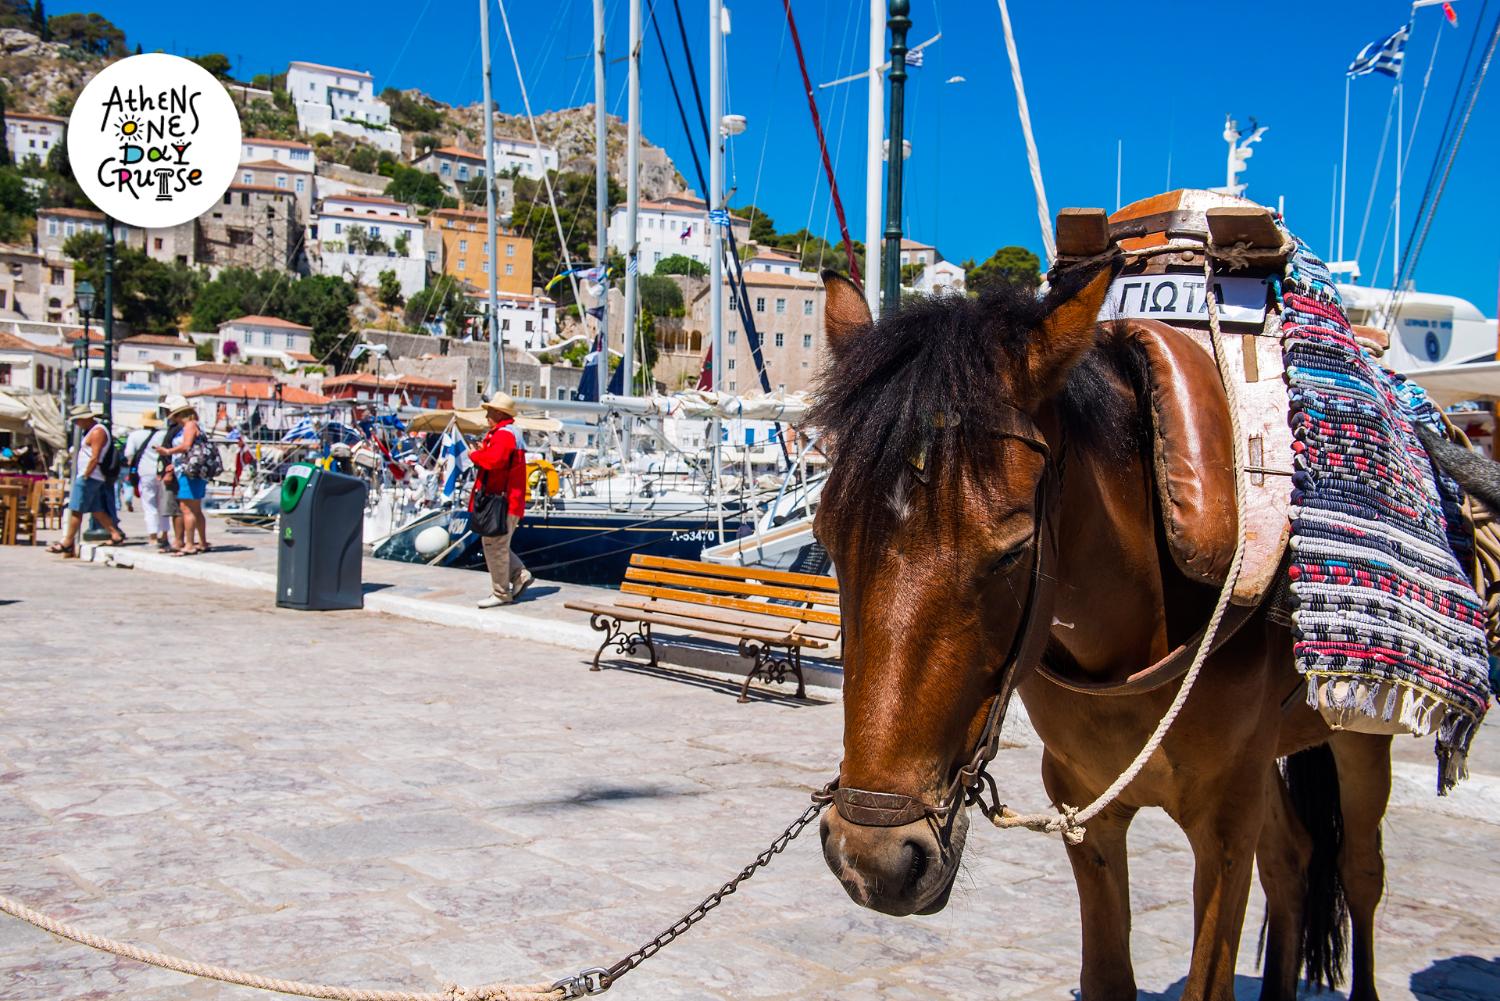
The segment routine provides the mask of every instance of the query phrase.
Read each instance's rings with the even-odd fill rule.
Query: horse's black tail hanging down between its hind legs
[[[1312,839],[1302,899],[1300,966],[1310,986],[1338,987],[1348,945],[1348,902],[1338,872],[1344,812],[1338,803],[1338,765],[1328,744],[1287,758],[1287,791],[1298,819]]]

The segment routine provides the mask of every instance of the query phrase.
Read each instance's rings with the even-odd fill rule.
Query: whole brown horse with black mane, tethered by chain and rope
[[[832,452],[818,536],[840,578],[844,756],[822,839],[864,906],[946,903],[968,834],[956,776],[1012,687],[1046,744],[1052,801],[1104,791],[1178,683],[1086,689],[1190,642],[1218,594],[1227,560],[1202,546],[1218,537],[1222,555],[1227,524],[1233,551],[1222,387],[1204,390],[1214,362],[1186,335],[1096,324],[1110,278],[1065,273],[1044,300],[933,299],[873,324],[858,290],[825,276],[832,363],[813,422]],[[1252,861],[1268,900],[1262,996],[1294,998],[1304,971],[1336,983],[1348,930],[1350,998],[1377,996],[1390,738],[1332,732],[1305,705],[1288,632],[1264,608],[1239,618],[1146,768],[1066,848],[1084,1001],[1136,996],[1125,837],[1146,806],[1194,852],[1184,996],[1234,996]],[[998,779],[1018,798],[1029,788]]]

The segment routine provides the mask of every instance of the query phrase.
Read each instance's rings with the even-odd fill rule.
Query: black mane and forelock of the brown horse
[[[846,509],[843,501],[858,504],[902,482],[915,455],[946,468],[992,455],[994,429],[1010,423],[1006,359],[1024,351],[1074,287],[1046,300],[1022,284],[986,288],[978,299],[914,297],[843,345],[810,414],[837,453],[824,504]],[[1054,399],[1070,449],[1120,453],[1140,440],[1136,407],[1118,389],[1122,378],[1136,381],[1136,366],[1113,345],[1106,339],[1086,354]]]

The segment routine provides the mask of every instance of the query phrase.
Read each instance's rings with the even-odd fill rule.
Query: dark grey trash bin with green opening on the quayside
[[[364,480],[297,464],[282,480],[276,603],[327,611],[364,606]]]

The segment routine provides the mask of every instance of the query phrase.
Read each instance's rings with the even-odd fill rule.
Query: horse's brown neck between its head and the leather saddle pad
[[[1053,644],[1100,678],[1166,656],[1167,582],[1144,461],[1070,456],[1054,528]]]

